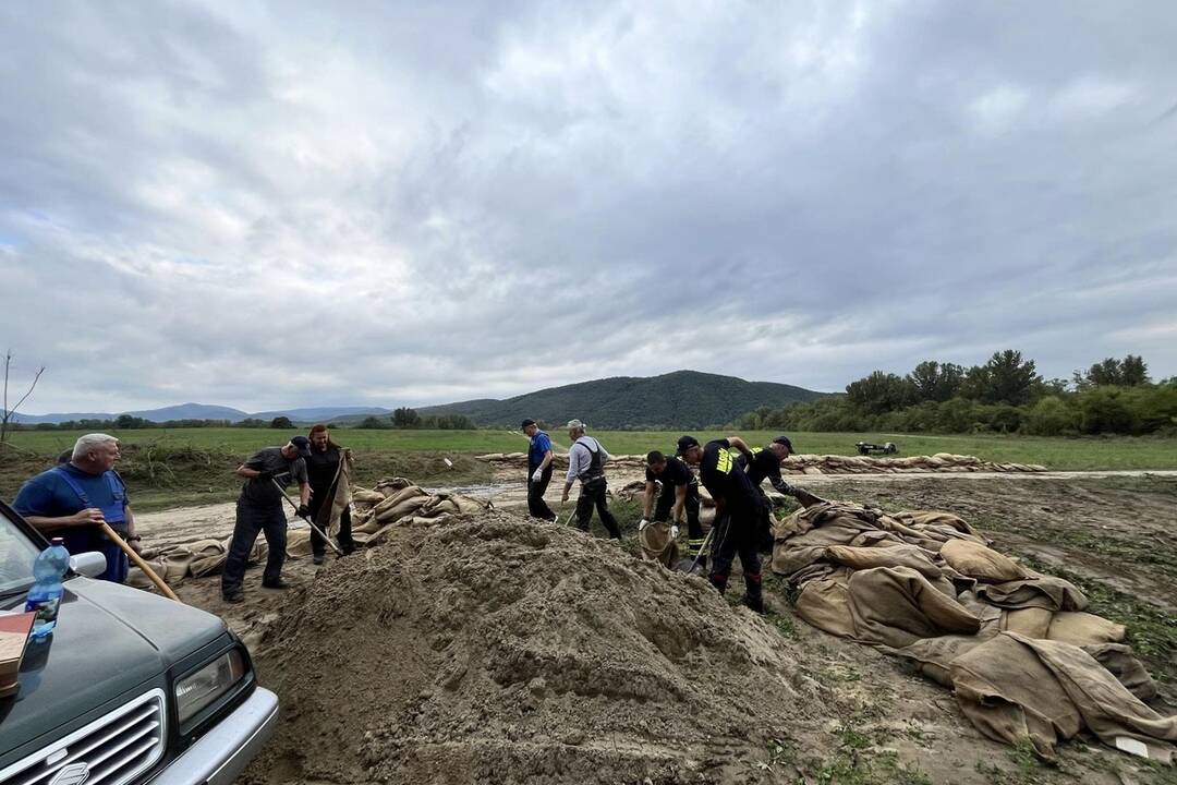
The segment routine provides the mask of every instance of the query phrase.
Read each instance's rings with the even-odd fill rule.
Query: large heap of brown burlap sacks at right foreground
[[[989,545],[950,513],[825,503],[777,525],[771,568],[798,590],[803,619],[915,661],[991,738],[1029,738],[1049,758],[1086,729],[1171,763],[1177,717],[1143,703],[1156,684],[1123,625]]]

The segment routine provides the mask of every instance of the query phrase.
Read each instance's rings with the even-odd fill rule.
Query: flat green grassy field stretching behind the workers
[[[191,447],[245,457],[248,453],[285,441],[294,431],[251,428],[181,428],[112,431],[124,444],[151,445],[162,448]],[[563,432],[552,431],[557,445],[566,444]],[[601,431],[590,432],[614,454],[670,451],[680,435],[678,431]],[[81,432],[18,431],[12,444],[29,453],[54,455],[73,446]],[[365,431],[337,430],[334,438],[357,452],[440,453],[477,455],[488,452],[519,452],[526,439],[507,431]],[[719,432],[694,432],[700,441]],[[751,444],[764,444],[774,432],[740,433]],[[793,446],[802,453],[855,454],[857,441],[895,441],[900,455],[938,452],[976,455],[998,463],[1043,464],[1059,471],[1076,470],[1148,470],[1177,468],[1177,439],[1153,437],[1116,437],[1064,439],[1004,435],[906,435],[896,433],[791,433]]]

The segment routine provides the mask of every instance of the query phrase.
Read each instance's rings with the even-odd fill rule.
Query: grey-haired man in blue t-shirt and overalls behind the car
[[[106,523],[139,551],[127,488],[114,471],[119,440],[105,433],[87,433],[74,444],[69,463],[41,472],[21,486],[13,508],[46,537],[60,537],[69,553],[99,551],[106,557],[104,580],[124,583],[127,556],[102,533]]]

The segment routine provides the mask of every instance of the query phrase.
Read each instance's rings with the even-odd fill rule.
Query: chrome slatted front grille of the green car
[[[0,771],[0,785],[126,785],[164,756],[166,716],[152,690]]]

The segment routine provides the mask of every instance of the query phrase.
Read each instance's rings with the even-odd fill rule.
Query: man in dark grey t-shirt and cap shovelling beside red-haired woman
[[[311,440],[294,437],[281,447],[259,450],[237,467],[237,475],[245,478],[241,495],[237,499],[237,524],[228,545],[228,558],[221,574],[221,596],[226,603],[244,603],[241,581],[250,551],[265,532],[270,553],[266,571],[261,574],[265,588],[288,588],[282,580],[282,564],[286,561],[286,512],[282,510],[282,492],[274,480],[290,485],[298,481],[301,504],[298,514],[306,518],[311,513],[311,485],[306,477],[306,460],[311,454]]]

